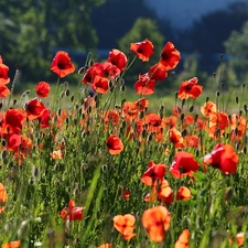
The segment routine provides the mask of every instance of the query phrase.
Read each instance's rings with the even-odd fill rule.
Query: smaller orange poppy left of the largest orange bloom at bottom
[[[125,239],[131,237],[133,235],[136,217],[131,214],[127,215],[116,215],[114,218],[114,227],[121,234],[127,237]],[[134,236],[132,236],[134,237]]]

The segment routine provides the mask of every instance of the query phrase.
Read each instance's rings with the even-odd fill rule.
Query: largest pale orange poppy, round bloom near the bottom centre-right
[[[150,239],[161,242],[164,239],[164,233],[170,227],[171,214],[166,207],[155,206],[144,211],[141,222]]]

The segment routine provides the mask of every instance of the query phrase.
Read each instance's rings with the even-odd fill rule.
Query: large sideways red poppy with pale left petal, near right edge
[[[204,157],[204,163],[211,164],[224,174],[235,174],[238,164],[238,154],[230,144],[218,143],[209,154]]]

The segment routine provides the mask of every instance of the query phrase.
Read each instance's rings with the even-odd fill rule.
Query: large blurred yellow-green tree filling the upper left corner
[[[97,45],[90,13],[104,0],[1,0],[0,54],[19,64],[23,80],[51,78],[56,47],[88,51]],[[87,39],[86,39],[87,37]]]

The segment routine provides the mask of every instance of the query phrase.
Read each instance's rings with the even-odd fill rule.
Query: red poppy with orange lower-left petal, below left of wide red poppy
[[[149,162],[148,170],[141,176],[141,182],[145,185],[153,185],[155,181],[163,181],[166,165],[163,163],[155,164],[152,160]]]

